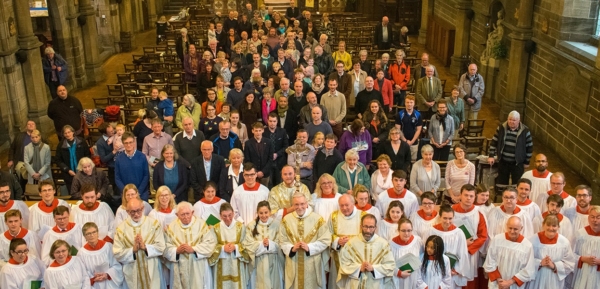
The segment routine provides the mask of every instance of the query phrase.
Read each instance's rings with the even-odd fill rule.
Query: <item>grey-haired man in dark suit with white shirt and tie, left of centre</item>
[[[194,189],[194,201],[199,201],[204,197],[204,185],[208,181],[219,183],[221,171],[226,170],[225,159],[222,156],[213,154],[213,144],[211,141],[203,141],[200,145],[201,156],[192,160],[190,180]],[[207,174],[207,172],[209,172]],[[219,192],[217,192],[219,195]]]

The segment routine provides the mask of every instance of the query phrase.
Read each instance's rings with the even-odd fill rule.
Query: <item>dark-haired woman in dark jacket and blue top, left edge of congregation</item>
[[[90,147],[85,140],[75,136],[75,130],[70,125],[65,125],[61,134],[63,139],[56,146],[55,160],[63,173],[67,189],[70,189],[73,184],[73,177],[77,174],[79,160],[91,156]]]

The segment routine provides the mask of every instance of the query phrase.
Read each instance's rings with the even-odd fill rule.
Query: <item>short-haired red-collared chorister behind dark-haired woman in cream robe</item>
[[[238,222],[247,225],[256,218],[256,206],[269,199],[269,189],[256,181],[256,168],[252,163],[244,165],[244,184],[233,190],[231,207]]]

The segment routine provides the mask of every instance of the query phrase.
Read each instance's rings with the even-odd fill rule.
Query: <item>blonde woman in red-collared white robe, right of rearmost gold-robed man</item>
[[[341,196],[335,179],[330,174],[322,174],[312,195],[315,213],[328,220],[331,213],[339,210],[338,199]]]

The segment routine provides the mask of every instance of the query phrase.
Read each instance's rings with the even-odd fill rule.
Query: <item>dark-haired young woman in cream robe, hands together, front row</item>
[[[253,264],[251,288],[283,288],[284,258],[275,241],[279,220],[271,216],[268,201],[260,201],[256,208],[256,220],[246,227],[244,247]]]

